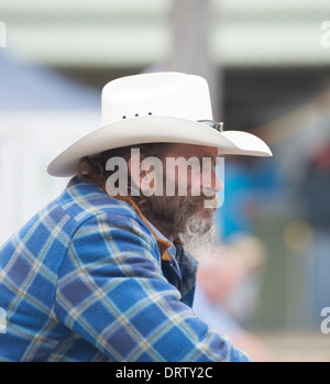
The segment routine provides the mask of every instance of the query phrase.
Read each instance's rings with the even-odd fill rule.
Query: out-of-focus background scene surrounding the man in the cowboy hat
[[[242,273],[213,309],[275,360],[330,361],[327,19],[328,0],[0,0],[0,242],[66,185],[46,166],[100,127],[106,83],[205,76],[215,119],[274,154],[226,160],[216,219]]]

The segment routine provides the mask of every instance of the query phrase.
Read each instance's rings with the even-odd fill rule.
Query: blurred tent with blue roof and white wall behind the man
[[[0,244],[68,182],[50,161],[99,125],[99,90],[0,51]]]

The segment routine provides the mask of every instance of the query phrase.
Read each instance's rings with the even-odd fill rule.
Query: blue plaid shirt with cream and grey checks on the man
[[[0,361],[246,361],[193,312],[197,265],[77,177],[0,250]]]

